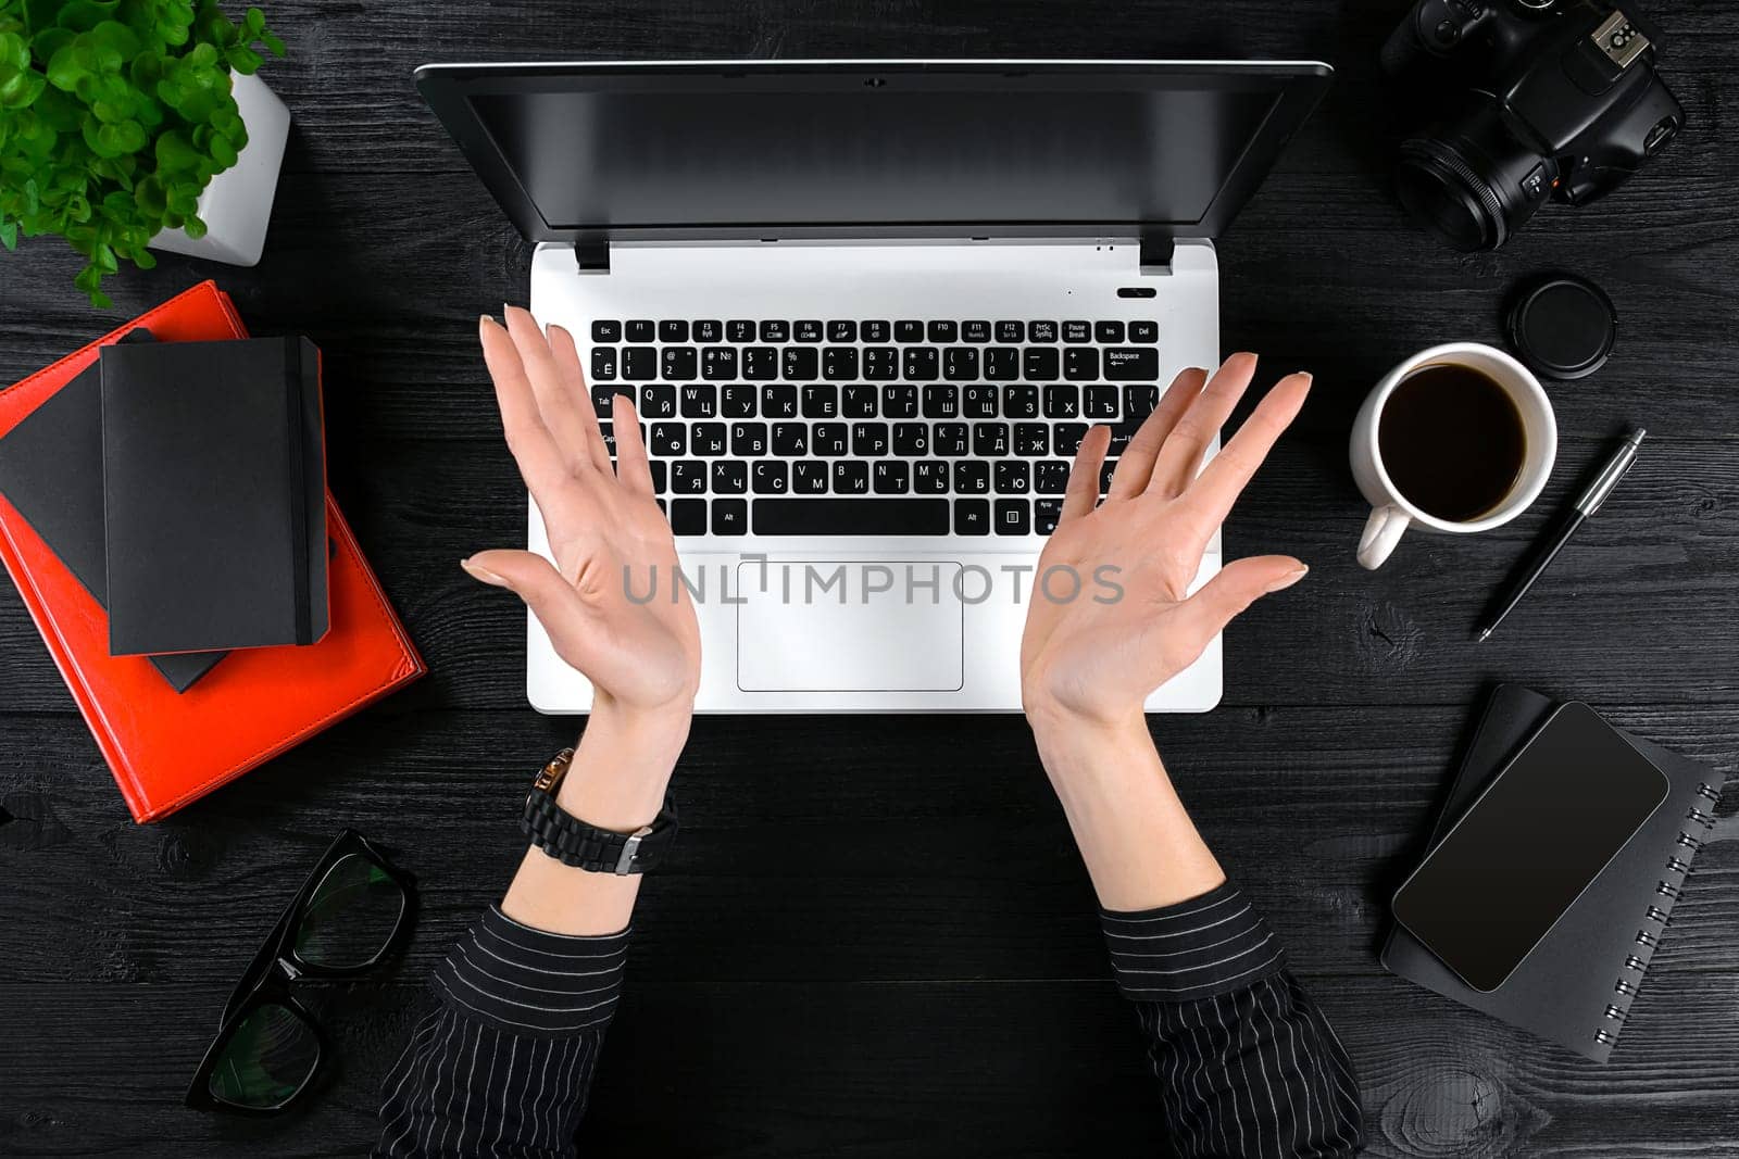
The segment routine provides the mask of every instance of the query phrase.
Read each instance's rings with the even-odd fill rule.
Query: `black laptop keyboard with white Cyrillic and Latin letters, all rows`
[[[1087,427],[1113,429],[1103,492],[1160,394],[1155,321],[631,318],[591,342],[676,535],[1049,535]]]

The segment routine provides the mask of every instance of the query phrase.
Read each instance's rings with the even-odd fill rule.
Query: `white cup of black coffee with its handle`
[[[1409,528],[1502,527],[1539,497],[1556,457],[1551,400],[1527,367],[1478,342],[1419,351],[1353,422],[1353,480],[1370,502],[1358,563],[1383,566]]]

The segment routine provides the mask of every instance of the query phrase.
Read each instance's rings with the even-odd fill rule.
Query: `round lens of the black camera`
[[[1402,142],[1395,193],[1412,217],[1462,252],[1496,250],[1541,202],[1544,158],[1483,103],[1461,122]]]

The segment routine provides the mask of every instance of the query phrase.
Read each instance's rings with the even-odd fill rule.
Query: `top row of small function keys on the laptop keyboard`
[[[1156,321],[852,321],[800,318],[786,321],[732,318],[600,320],[591,323],[593,342],[1136,342],[1160,341]]]

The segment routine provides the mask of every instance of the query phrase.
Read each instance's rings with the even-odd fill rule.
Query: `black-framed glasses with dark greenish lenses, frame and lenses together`
[[[303,1098],[329,1048],[290,983],[374,970],[409,938],[414,902],[410,874],[362,834],[341,832],[224,1004],[188,1107],[270,1116]]]

